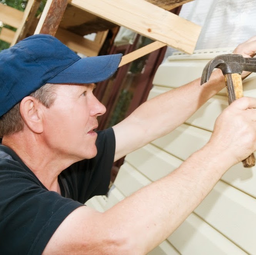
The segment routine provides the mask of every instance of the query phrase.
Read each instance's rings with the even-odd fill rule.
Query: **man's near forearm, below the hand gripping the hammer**
[[[135,192],[105,214],[115,215],[113,224],[122,226],[134,238],[134,254],[146,254],[165,240],[210,192],[234,163],[226,158],[225,151],[206,145],[174,172]]]

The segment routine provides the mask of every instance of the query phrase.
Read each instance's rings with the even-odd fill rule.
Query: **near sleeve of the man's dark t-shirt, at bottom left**
[[[67,215],[83,206],[10,169],[2,171],[0,189],[1,254],[42,254]]]

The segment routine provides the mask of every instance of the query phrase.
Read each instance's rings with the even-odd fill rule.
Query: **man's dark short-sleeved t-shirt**
[[[0,254],[42,254],[72,211],[107,193],[115,153],[112,128],[98,132],[96,146],[96,157],[59,175],[60,195],[47,190],[12,149],[0,145]]]

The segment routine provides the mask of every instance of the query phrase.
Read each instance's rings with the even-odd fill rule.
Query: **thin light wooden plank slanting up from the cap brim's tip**
[[[153,43],[150,43],[149,45],[139,48],[138,50],[132,51],[131,53],[124,55],[122,57],[119,67],[123,66],[127,63],[130,63],[130,62],[136,60],[137,58],[141,58],[142,56],[145,56],[145,55],[151,53],[152,51],[158,50],[164,46],[166,46],[165,43],[161,43],[160,41],[154,41]]]

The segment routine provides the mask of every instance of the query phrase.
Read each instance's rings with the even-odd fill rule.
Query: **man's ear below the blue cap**
[[[35,133],[42,133],[43,127],[43,105],[32,96],[26,96],[20,102],[20,115],[27,127]]]

